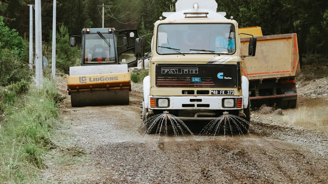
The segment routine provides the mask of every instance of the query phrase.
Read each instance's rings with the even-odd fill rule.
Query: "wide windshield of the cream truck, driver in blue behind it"
[[[158,26],[157,53],[234,54],[235,26],[232,24],[162,24]]]

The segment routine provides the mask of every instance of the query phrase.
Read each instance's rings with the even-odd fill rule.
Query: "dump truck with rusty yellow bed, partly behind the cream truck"
[[[263,36],[261,27],[239,28],[239,34],[257,39],[255,57],[245,57],[242,73],[249,80],[252,108],[263,104],[281,109],[295,108],[297,89],[295,76],[300,71],[297,34]],[[248,52],[250,35],[240,35],[241,55]]]

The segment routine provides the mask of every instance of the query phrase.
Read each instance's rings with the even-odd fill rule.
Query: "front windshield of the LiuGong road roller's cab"
[[[84,63],[115,63],[115,51],[113,34],[102,33],[111,47],[102,39],[99,34],[85,34],[84,43]]]

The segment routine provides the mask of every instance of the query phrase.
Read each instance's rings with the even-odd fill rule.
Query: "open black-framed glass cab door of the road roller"
[[[135,39],[138,38],[136,29],[116,30],[116,42],[119,64],[127,64],[128,67],[137,67],[135,56]]]

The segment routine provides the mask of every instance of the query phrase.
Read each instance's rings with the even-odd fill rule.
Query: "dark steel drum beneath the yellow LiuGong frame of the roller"
[[[129,90],[71,92],[72,107],[128,105]]]

